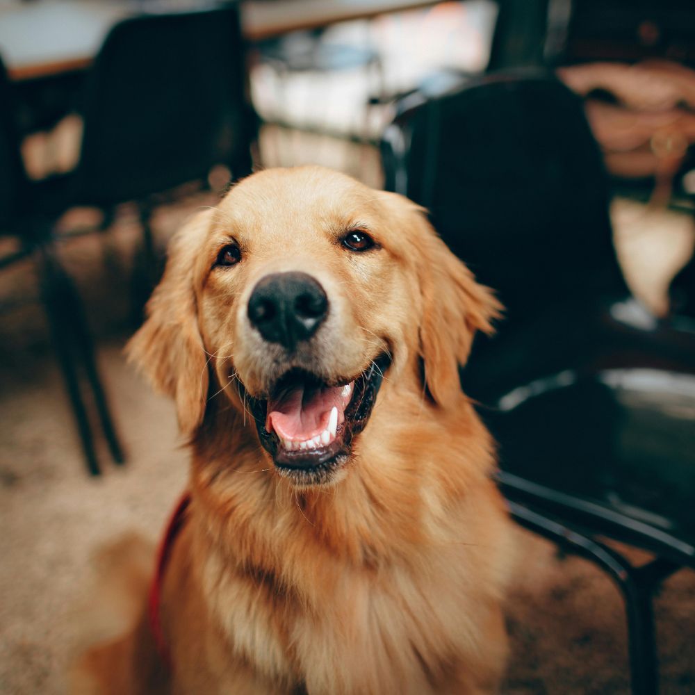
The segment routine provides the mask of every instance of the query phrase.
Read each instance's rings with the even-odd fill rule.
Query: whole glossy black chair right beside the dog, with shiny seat
[[[386,187],[427,207],[507,306],[461,378],[512,514],[616,580],[633,690],[656,692],[651,598],[695,567],[695,335],[628,291],[582,101],[544,74],[487,76],[410,97],[382,152]],[[601,537],[655,559],[632,567]]]

